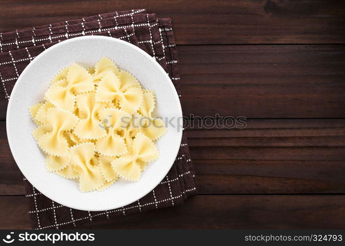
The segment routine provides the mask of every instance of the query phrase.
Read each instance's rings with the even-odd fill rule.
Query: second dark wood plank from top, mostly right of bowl
[[[345,118],[345,45],[179,46],[184,115]],[[0,119],[7,99],[0,90]]]

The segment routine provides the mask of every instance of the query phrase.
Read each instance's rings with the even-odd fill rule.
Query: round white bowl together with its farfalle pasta
[[[100,40],[104,47],[80,54]],[[149,193],[176,158],[182,128],[166,122],[182,118],[178,95],[159,64],[132,46],[100,36],[61,42],[31,62],[12,91],[12,154],[28,181],[60,204],[125,206]],[[52,71],[41,68],[46,63]]]

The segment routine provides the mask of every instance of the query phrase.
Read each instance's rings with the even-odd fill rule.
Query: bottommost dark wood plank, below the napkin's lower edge
[[[28,229],[26,198],[0,199],[0,229]],[[87,223],[87,229],[342,229],[344,195],[197,195],[184,205]]]

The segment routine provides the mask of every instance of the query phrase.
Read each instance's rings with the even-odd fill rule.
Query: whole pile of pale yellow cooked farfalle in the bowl
[[[78,181],[81,192],[104,190],[120,178],[138,181],[158,158],[153,141],[166,127],[153,117],[155,94],[109,58],[62,69],[44,99],[30,107],[38,125],[33,137],[47,171]]]

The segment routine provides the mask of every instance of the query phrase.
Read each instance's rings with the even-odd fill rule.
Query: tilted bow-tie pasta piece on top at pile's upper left
[[[92,76],[85,68],[74,64],[66,78],[55,82],[45,93],[45,98],[54,106],[68,111],[75,107],[76,94],[90,92],[95,88]]]

